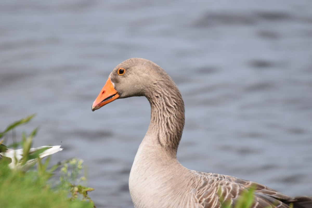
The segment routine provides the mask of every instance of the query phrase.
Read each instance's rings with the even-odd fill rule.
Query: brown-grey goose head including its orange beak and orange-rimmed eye
[[[173,83],[169,75],[154,62],[131,58],[117,65],[92,104],[92,111],[119,98],[146,96],[161,83]],[[175,85],[173,83],[173,85]]]

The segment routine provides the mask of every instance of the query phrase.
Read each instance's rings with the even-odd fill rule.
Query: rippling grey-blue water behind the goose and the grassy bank
[[[85,161],[98,208],[133,207],[128,178],[149,103],[91,111],[131,57],[154,61],[181,90],[184,166],[312,195],[311,1],[0,1],[0,131],[37,113],[24,129],[40,126],[36,146],[62,145],[54,162]]]

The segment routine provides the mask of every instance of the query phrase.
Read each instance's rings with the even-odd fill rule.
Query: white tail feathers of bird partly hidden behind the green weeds
[[[57,146],[41,146],[37,148],[30,148],[29,154],[33,154],[36,151],[40,151],[41,149],[45,148],[43,152],[39,154],[39,157],[42,159],[46,156],[54,154],[63,150],[60,145]],[[22,165],[22,158],[23,158],[23,149],[7,149],[7,147],[3,144],[0,144],[0,159],[2,157],[7,157],[11,162],[9,163],[9,167],[11,169],[20,169],[24,172],[28,171],[33,165],[38,162],[38,159],[30,159],[25,164]]]

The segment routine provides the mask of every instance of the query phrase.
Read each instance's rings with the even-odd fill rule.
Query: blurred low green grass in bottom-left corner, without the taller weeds
[[[66,190],[51,188],[45,177],[36,172],[23,173],[11,170],[8,166],[0,168],[0,201],[2,207],[90,207],[90,202],[68,199]]]

